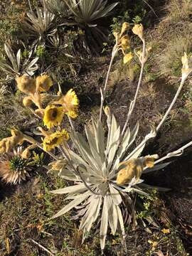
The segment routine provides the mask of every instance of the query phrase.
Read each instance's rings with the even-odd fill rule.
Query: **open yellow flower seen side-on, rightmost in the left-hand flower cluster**
[[[65,114],[70,117],[78,117],[78,107],[79,107],[78,96],[73,89],[70,89],[65,95],[61,95],[58,100],[55,100],[53,104],[62,105]]]

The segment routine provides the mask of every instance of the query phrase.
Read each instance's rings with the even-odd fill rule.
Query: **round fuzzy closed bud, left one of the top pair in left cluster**
[[[26,94],[34,94],[36,92],[36,82],[33,78],[28,75],[22,75],[16,78],[18,90]]]

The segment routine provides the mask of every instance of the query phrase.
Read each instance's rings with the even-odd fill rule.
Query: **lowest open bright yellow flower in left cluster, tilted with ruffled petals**
[[[43,139],[43,149],[45,151],[50,151],[56,146],[63,144],[63,142],[68,141],[68,139],[69,134],[65,129],[63,129],[61,132],[54,132],[53,134],[50,134],[49,136],[45,137],[45,139]]]

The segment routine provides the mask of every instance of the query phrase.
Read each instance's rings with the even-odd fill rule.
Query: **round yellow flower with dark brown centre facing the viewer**
[[[62,122],[63,115],[63,107],[48,106],[44,112],[43,122],[50,129]]]

